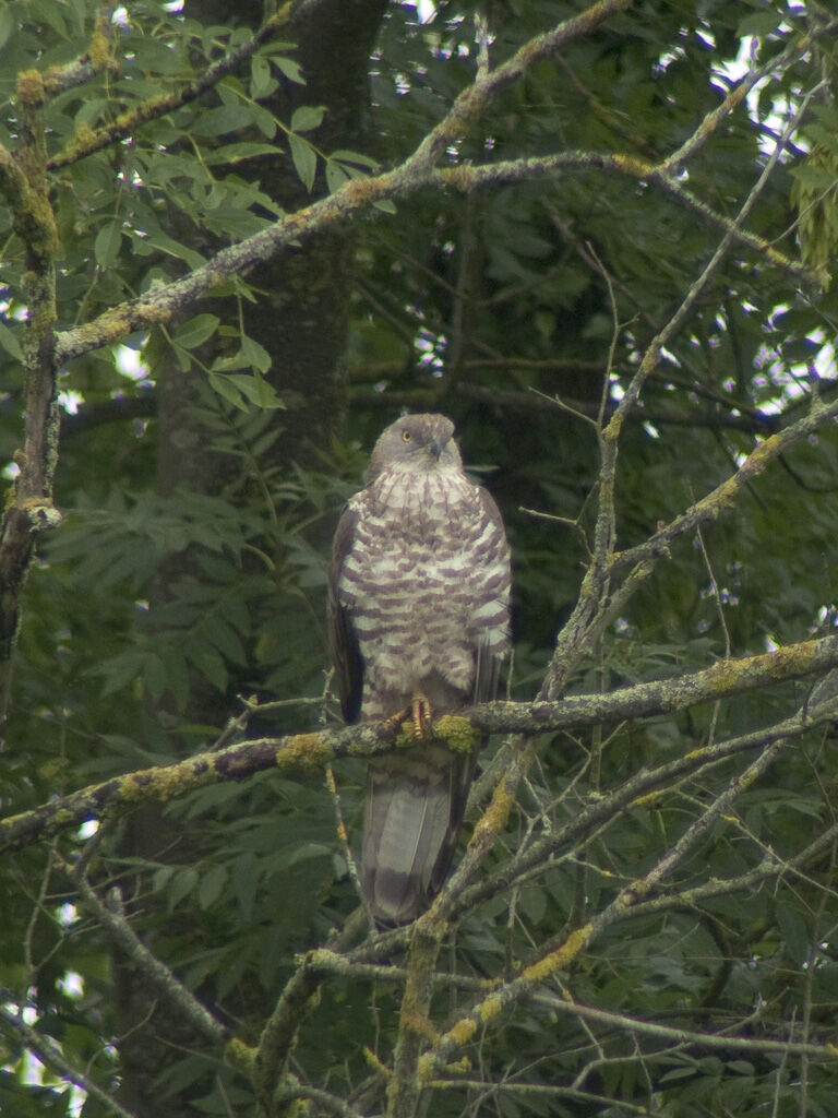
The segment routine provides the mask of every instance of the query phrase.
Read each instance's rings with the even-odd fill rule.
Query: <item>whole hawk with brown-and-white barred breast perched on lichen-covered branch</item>
[[[372,452],[334,539],[330,629],[347,722],[431,717],[494,698],[510,646],[510,547],[497,505],[463,470],[454,424],[404,416]],[[380,925],[441,888],[474,757],[418,743],[369,767],[361,859]]]

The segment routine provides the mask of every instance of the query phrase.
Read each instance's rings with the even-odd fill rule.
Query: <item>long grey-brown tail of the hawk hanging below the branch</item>
[[[371,762],[361,875],[377,923],[408,923],[439,892],[473,774],[474,755],[437,746],[417,746]]]

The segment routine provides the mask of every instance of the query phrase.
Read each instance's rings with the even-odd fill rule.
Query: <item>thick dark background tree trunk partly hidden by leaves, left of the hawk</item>
[[[227,22],[230,6],[217,0],[193,0],[188,15],[209,25]],[[358,150],[363,142],[363,121],[368,102],[366,66],[385,8],[384,0],[331,0],[312,7],[312,13],[293,23],[284,38],[296,39],[296,57],[306,85],[285,83],[272,98],[269,108],[288,121],[297,105],[324,105],[323,124],[311,139],[324,151]],[[240,19],[254,22],[260,6],[239,4],[232,10]],[[284,149],[286,145],[282,144]],[[258,177],[260,187],[285,209],[292,210],[310,199],[294,170],[287,151],[265,165],[237,173]],[[324,192],[318,176],[315,195]],[[180,231],[181,239],[185,236]],[[200,246],[206,249],[206,244]],[[305,254],[295,252],[278,257],[251,277],[265,297],[246,303],[245,330],[272,356],[268,379],[283,399],[286,410],[275,413],[283,427],[274,443],[273,464],[312,465],[314,451],[328,445],[330,435],[342,418],[342,354],[345,347],[349,300],[352,284],[352,238],[341,233],[310,241]],[[203,303],[200,311],[212,310],[225,320],[231,303],[220,300]],[[217,344],[217,343],[216,343]],[[197,418],[196,405],[208,391],[203,375],[192,366],[182,370],[171,356],[158,371],[159,452],[158,491],[171,494],[178,486],[202,494],[213,494],[229,476],[228,459],[212,448],[212,439]],[[155,604],[172,600],[179,588],[196,576],[196,555],[185,551],[165,562],[158,572],[151,613]],[[155,714],[166,718],[166,711]],[[206,682],[197,681],[187,718],[202,723],[223,724],[229,713],[225,695]],[[193,861],[200,835],[174,827],[163,812],[150,805],[135,813],[126,827],[121,854],[143,860]],[[189,853],[188,853],[189,852]],[[137,889],[137,894],[142,891]],[[142,922],[150,921],[154,906],[140,901],[133,908]],[[170,918],[170,922],[171,922]],[[151,938],[156,938],[153,934]],[[178,960],[169,959],[177,970]],[[166,1067],[181,1058],[184,1048],[201,1046],[198,1038],[184,1032],[166,1007],[149,992],[147,983],[124,959],[114,958],[117,1021],[121,1033],[122,1086],[120,1101],[136,1118],[182,1118],[187,1095],[161,1097],[156,1080]],[[206,1083],[202,1084],[206,1087]]]

